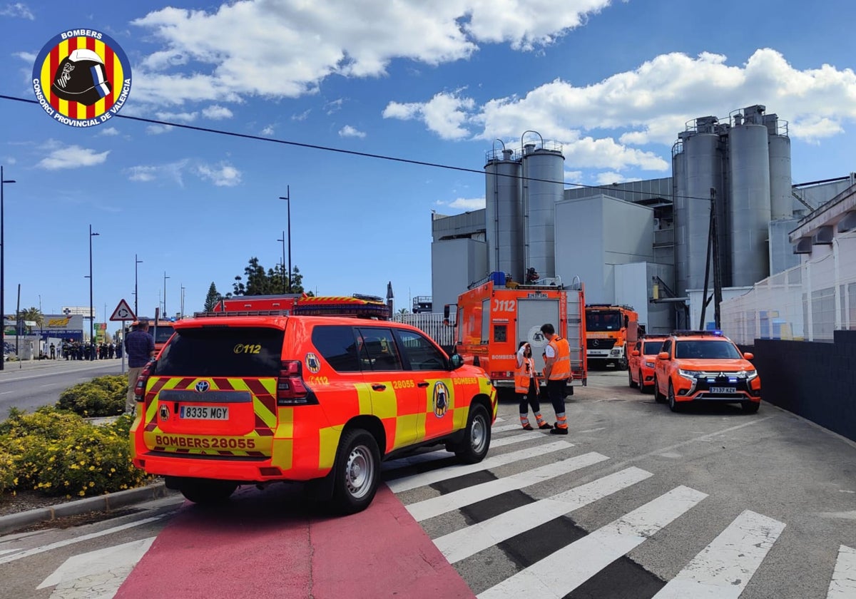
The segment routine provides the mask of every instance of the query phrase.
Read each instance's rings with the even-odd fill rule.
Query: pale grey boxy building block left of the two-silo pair
[[[443,311],[467,291],[467,285],[487,276],[487,244],[472,239],[431,243],[431,302]]]

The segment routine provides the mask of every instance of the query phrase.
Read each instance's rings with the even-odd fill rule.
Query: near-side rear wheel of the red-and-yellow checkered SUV
[[[348,430],[339,442],[333,466],[333,506],[338,513],[366,509],[380,480],[380,452],[375,438],[362,429]]]

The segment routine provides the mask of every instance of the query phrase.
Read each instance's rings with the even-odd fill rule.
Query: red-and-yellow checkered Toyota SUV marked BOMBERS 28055
[[[490,379],[407,324],[209,312],[173,325],[136,384],[132,457],[190,501],[309,481],[354,513],[383,459],[439,444],[473,464],[490,448]]]

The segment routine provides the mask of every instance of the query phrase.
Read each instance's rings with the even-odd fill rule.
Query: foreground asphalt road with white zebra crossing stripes
[[[625,372],[593,372],[589,383],[568,404],[568,436],[520,430],[516,404],[503,403],[482,464],[458,466],[440,452],[384,465],[395,500],[473,595],[856,596],[856,443],[766,403],[752,415],[738,406],[675,414],[628,388]],[[543,412],[552,416],[550,406]],[[338,537],[307,535],[307,526],[325,519],[293,485],[241,489],[228,506],[205,510],[204,519],[193,517],[200,508],[192,504],[162,501],[96,525],[0,537],[0,578],[14,579],[0,597],[71,596],[69,588],[85,596],[104,577],[117,596],[133,596],[132,579],[120,585],[135,560],[163,560],[159,552],[177,550],[170,543],[149,548],[164,525],[184,543],[170,567],[200,590],[198,572],[221,572],[240,588],[245,578],[251,584],[269,575],[272,564],[327,555],[330,543],[359,553],[387,534],[351,517],[338,525]],[[379,509],[373,504],[366,513]],[[276,534],[265,523],[278,527]],[[223,568],[230,546],[265,557],[259,567]],[[306,555],[294,555],[295,546]],[[434,558],[419,549],[420,562]],[[407,575],[406,563],[403,549],[371,572],[393,588]],[[329,596],[359,597],[349,583],[364,575],[341,572],[338,594]],[[437,593],[425,585],[423,596]]]

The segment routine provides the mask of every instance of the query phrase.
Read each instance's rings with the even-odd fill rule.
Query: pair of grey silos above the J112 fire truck
[[[502,271],[525,282],[526,271],[540,278],[556,275],[554,223],[556,202],[564,191],[562,146],[520,139],[520,149],[501,147],[487,154],[485,172],[485,240],[488,271]]]

